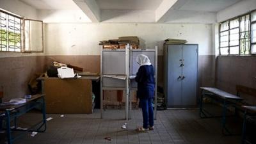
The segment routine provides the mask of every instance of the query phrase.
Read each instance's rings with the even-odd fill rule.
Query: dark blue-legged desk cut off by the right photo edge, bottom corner
[[[250,143],[246,140],[246,122],[250,118],[256,120],[256,106],[242,106],[244,109],[244,120],[243,120],[243,132],[242,132],[242,144]]]

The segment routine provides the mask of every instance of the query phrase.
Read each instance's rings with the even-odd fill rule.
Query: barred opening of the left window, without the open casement
[[[21,51],[21,19],[0,10],[0,51]]]

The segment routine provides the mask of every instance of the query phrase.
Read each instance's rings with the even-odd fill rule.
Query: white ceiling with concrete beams
[[[172,22],[216,12],[242,0],[20,0],[38,11],[80,10],[91,22]],[[52,13],[51,13],[52,14]],[[195,16],[197,15],[197,16]],[[209,18],[209,16],[211,18]],[[45,15],[44,15],[45,17]],[[193,21],[193,20],[192,20]],[[210,20],[211,21],[211,20]],[[179,22],[179,20],[178,20]],[[193,22],[196,22],[195,20]]]

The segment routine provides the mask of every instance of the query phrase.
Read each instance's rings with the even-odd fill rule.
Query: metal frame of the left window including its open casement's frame
[[[3,10],[0,8],[0,12],[1,13],[5,13],[6,15],[11,15],[12,17],[16,17],[18,19],[20,19],[20,51],[0,51],[0,52],[44,52],[44,23],[42,20],[35,20],[35,19],[26,19],[25,17],[20,17],[19,15],[15,15],[11,12],[8,12],[6,10]],[[42,22],[42,51],[33,51],[31,50],[31,47],[29,47],[29,51],[25,49],[26,45],[25,45],[25,21],[29,20],[29,21],[37,21],[37,22]],[[8,42],[8,40],[6,40],[6,42]],[[30,38],[29,38],[29,42],[30,42]],[[6,45],[6,47],[9,47],[9,45]]]

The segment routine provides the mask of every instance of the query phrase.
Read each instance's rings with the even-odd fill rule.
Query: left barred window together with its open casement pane
[[[0,52],[43,52],[43,22],[0,10]]]

